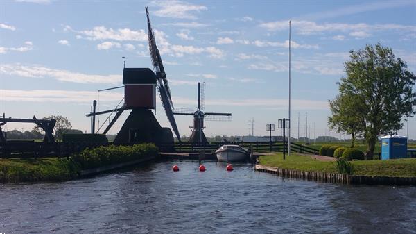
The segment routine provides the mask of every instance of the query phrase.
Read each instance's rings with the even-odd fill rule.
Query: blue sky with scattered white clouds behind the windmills
[[[175,108],[197,108],[206,83],[207,112],[230,122],[205,122],[205,134],[268,135],[266,124],[288,118],[291,21],[291,136],[333,135],[328,100],[338,94],[349,51],[391,47],[416,73],[416,1],[0,1],[0,113],[6,117],[67,117],[90,131],[92,101],[110,110],[123,90],[126,67],[152,67],[145,6]],[[157,97],[155,116],[170,126]],[[118,133],[122,117],[109,134]],[[190,135],[189,116],[175,117]],[[299,119],[299,124],[298,124]],[[98,118],[99,125],[108,122]],[[416,139],[416,118],[409,119]],[[98,123],[97,123],[98,124]],[[298,128],[299,126],[299,128]],[[30,130],[7,124],[3,130]],[[399,135],[406,135],[407,123]],[[276,131],[273,135],[281,135]]]

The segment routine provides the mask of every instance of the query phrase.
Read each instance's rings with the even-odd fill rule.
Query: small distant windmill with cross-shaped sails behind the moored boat
[[[193,126],[190,127],[192,134],[189,138],[189,142],[193,143],[207,143],[207,137],[205,137],[203,129],[204,119],[213,121],[230,121],[230,113],[214,113],[203,112],[205,110],[205,83],[198,82],[198,108],[193,111],[189,109],[175,109],[173,115],[193,115]]]

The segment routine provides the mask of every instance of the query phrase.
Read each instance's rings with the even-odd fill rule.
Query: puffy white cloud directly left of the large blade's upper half
[[[137,41],[146,42],[148,40],[148,34],[140,29],[139,31],[131,30],[130,28],[106,28],[105,26],[96,26],[91,30],[76,31],[71,26],[65,26],[64,30],[72,31],[83,35],[79,38],[86,38],[88,40],[115,40],[115,41]],[[78,37],[77,37],[78,38]]]

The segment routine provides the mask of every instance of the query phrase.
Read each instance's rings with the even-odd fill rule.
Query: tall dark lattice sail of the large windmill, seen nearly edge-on
[[[149,40],[149,51],[150,57],[152,58],[153,67],[156,70],[157,78],[157,87],[159,88],[160,99],[162,101],[162,106],[166,112],[169,123],[173,128],[177,140],[180,140],[179,130],[177,129],[177,124],[175,117],[173,116],[173,102],[171,98],[171,90],[169,89],[168,79],[166,78],[166,72],[164,71],[164,66],[162,63],[162,57],[160,56],[159,49],[157,49],[155,35],[152,31],[152,26],[150,25],[150,18],[148,13],[148,8],[146,6],[146,16],[148,21],[148,40]]]

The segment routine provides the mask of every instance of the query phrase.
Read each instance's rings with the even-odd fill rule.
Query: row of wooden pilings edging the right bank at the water
[[[293,169],[282,169],[255,165],[259,172],[277,174],[285,178],[300,178],[306,181],[318,181],[322,183],[342,184],[367,184],[367,185],[416,185],[416,177],[389,177],[389,176],[351,176],[347,174],[327,172],[306,172]]]

